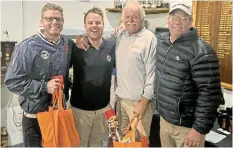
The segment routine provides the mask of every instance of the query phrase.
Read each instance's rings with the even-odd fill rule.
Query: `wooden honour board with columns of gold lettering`
[[[222,86],[232,89],[232,2],[193,1],[193,19],[200,37],[218,55]]]

